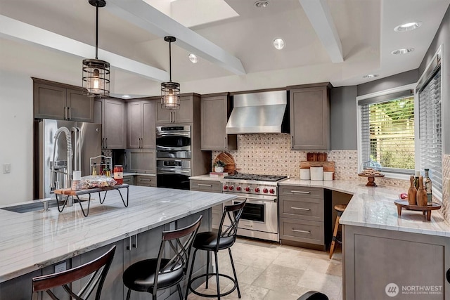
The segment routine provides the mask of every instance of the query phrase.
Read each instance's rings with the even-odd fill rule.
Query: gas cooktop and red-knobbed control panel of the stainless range
[[[277,182],[288,176],[236,174],[224,177],[222,188],[227,193],[277,195]]]

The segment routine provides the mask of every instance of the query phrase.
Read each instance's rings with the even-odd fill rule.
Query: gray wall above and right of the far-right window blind
[[[450,154],[450,6],[442,19],[439,30],[437,30],[430,48],[420,63],[419,74],[425,71],[430,60],[435,55],[439,46],[442,45],[441,76],[442,76],[442,126],[443,132],[443,152]]]

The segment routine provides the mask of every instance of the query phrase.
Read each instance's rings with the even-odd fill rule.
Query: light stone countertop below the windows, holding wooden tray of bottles
[[[450,237],[450,224],[438,211],[432,211],[431,221],[426,220],[422,211],[403,209],[398,216],[394,200],[399,199],[400,193],[406,193],[404,188],[387,185],[372,188],[359,181],[302,181],[295,178],[280,181],[278,185],[327,188],[352,194],[352,200],[340,218],[344,225]]]

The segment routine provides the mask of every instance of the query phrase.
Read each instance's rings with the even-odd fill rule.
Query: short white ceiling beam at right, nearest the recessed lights
[[[342,45],[326,0],[298,0],[333,63],[342,63]]]

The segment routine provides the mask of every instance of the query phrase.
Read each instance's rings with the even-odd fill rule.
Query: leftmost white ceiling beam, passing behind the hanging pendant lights
[[[20,22],[18,20],[0,15],[0,37],[25,41],[26,43],[36,44],[45,48],[52,48],[58,51],[69,53],[80,58],[94,58],[95,46],[84,44],[75,39],[69,39],[60,34],[43,30],[39,27]],[[115,53],[98,49],[98,57],[106,60],[111,67],[120,70],[139,74],[154,81],[168,81],[169,74],[156,67],[139,63],[136,60],[118,56]],[[81,61],[80,61],[81,72]]]

